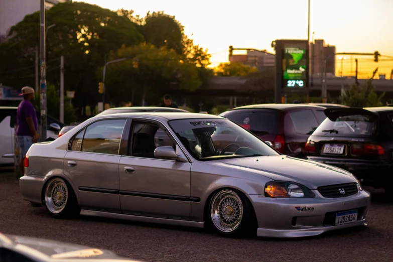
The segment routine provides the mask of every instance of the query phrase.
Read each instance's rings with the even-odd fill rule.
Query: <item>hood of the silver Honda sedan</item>
[[[342,169],[288,156],[245,157],[214,162],[216,165],[228,165],[276,181],[297,182],[310,189],[356,182],[350,173]]]

